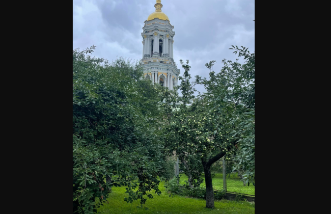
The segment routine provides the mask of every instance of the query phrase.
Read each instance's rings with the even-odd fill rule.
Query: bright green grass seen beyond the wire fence
[[[185,180],[187,181],[188,178],[185,174],[180,174],[180,184],[185,184]],[[205,179],[205,175],[202,174],[201,178]],[[213,183],[213,189],[214,190],[222,190],[223,189],[223,173],[216,173],[215,177],[212,178]],[[201,183],[201,187],[206,187],[205,181]],[[250,184],[248,186],[243,185],[243,182],[240,181],[240,178],[237,176],[237,173],[231,174],[230,178],[227,177],[227,191],[233,192],[233,193],[241,193],[241,194],[248,194],[248,195],[254,195],[255,196],[255,186],[253,184]]]

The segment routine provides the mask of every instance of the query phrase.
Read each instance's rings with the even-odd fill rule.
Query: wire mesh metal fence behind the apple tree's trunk
[[[255,196],[255,186],[250,183],[243,182],[241,171],[233,171],[233,163],[220,159],[218,161],[217,167],[214,167],[212,170],[212,184],[214,190],[225,190],[228,193],[239,193],[245,195]],[[180,169],[179,169],[180,171]],[[178,171],[177,171],[178,173]],[[202,174],[201,178],[205,178],[205,175]],[[187,176],[181,173],[180,184],[185,184],[187,181]],[[205,187],[205,182],[201,183],[201,187]]]

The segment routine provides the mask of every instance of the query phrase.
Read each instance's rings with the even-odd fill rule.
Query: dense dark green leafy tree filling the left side
[[[159,135],[162,113],[138,63],[92,58],[94,46],[73,50],[73,205],[93,213],[112,186],[144,204],[169,168]],[[96,204],[95,198],[101,203]]]

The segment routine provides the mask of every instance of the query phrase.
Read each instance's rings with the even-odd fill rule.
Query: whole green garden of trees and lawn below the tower
[[[232,46],[244,64],[223,60],[215,73],[210,61],[209,78],[195,82],[180,60],[169,90],[140,62],[94,49],[73,50],[73,212],[254,213],[254,202],[225,194],[255,195],[255,53]],[[221,162],[231,163],[226,191]]]

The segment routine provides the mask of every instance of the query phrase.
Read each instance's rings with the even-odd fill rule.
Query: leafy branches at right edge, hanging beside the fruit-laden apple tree
[[[239,142],[234,155],[235,169],[243,170],[244,183],[255,184],[255,53],[246,47],[232,46],[234,53],[243,57],[244,63],[223,60],[219,73],[212,71],[215,61],[207,63],[209,80],[196,76],[197,83],[205,86],[206,99],[217,113],[227,112],[228,126],[234,129]]]

